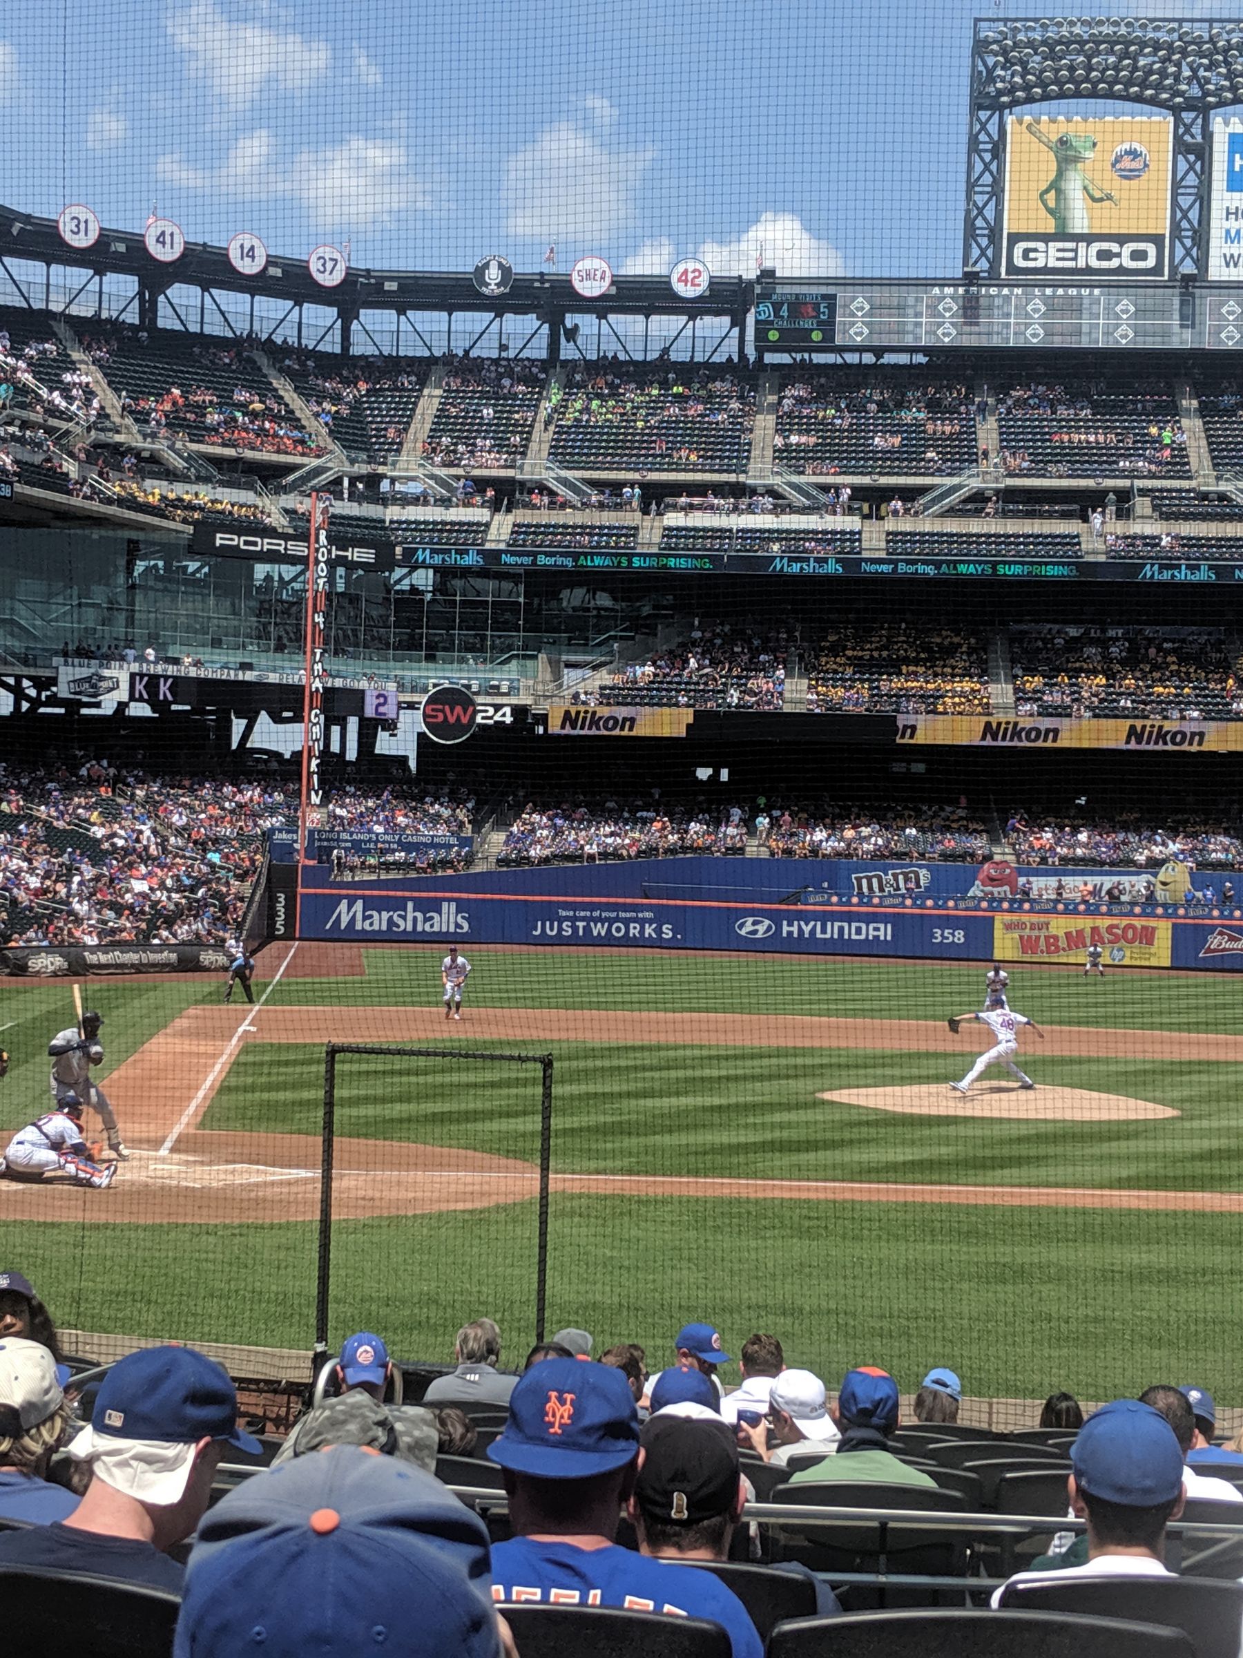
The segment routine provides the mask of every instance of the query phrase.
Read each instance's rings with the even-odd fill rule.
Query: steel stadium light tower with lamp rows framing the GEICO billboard
[[[1243,22],[1144,17],[976,18],[963,269],[999,265],[1006,113],[1089,98],[1173,118],[1172,274],[1202,274],[1208,118],[1243,103]]]

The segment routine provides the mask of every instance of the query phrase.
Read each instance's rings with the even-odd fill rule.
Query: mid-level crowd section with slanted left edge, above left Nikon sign
[[[699,620],[684,640],[630,663],[595,700],[607,705],[779,710],[786,700],[789,625],[736,628]],[[585,701],[592,700],[587,693]]]

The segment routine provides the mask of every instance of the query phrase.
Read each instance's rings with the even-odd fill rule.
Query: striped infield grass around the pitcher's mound
[[[446,1038],[467,1050],[469,1038]],[[534,1046],[534,1045],[529,1045]],[[1230,1156],[1238,1066],[1069,1059],[1024,1050],[1037,1081],[1182,1113],[1155,1122],[918,1117],[817,1099],[834,1088],[945,1081],[945,1054],[547,1043],[554,1167],[572,1174],[897,1180],[1125,1190],[1243,1190]],[[961,1054],[961,1069],[971,1058]],[[956,1074],[961,1074],[961,1069]],[[459,1146],[535,1162],[539,1073],[452,1059],[343,1056],[340,1134]],[[252,1041],[202,1127],[317,1134],[323,1050]]]

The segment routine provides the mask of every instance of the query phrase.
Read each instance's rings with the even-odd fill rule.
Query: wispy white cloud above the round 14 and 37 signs
[[[365,230],[431,206],[404,143],[358,133],[325,149],[303,149],[287,166],[275,138],[260,126],[242,133],[219,167],[196,167],[171,153],[157,159],[156,177],[230,197],[288,196],[303,204],[315,230]]]

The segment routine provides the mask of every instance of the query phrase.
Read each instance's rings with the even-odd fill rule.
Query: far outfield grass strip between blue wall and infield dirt
[[[525,950],[462,945],[474,972],[467,1006],[593,1008],[666,1013],[799,1013],[837,1018],[943,1020],[983,1006],[984,970],[865,957],[721,958],[696,952]],[[365,977],[283,978],[283,1006],[434,1006],[444,945],[363,950]],[[1011,1005],[1041,1025],[1127,1030],[1238,1030],[1240,985],[1230,975],[1129,973],[1006,963]]]

